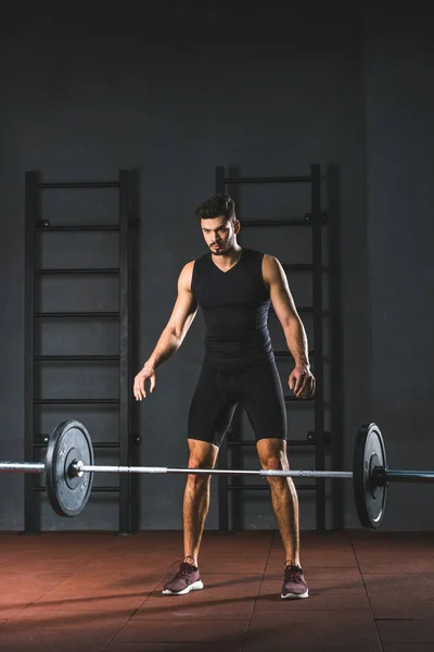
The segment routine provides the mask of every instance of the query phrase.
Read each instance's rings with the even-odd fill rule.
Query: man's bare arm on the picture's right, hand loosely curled
[[[290,389],[299,399],[315,393],[315,377],[310,372],[306,330],[295,308],[286,274],[277,258],[265,254],[264,281],[269,288],[272,308],[282,325],[288,348],[294,358],[294,369],[289,377]]]

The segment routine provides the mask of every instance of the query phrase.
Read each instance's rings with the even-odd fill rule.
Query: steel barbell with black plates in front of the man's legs
[[[82,423],[67,419],[52,431],[44,463],[0,462],[0,473],[46,475],[50,505],[60,516],[77,516],[85,509],[94,473],[143,473],[188,475],[234,475],[298,478],[353,479],[357,513],[363,527],[380,527],[386,509],[390,482],[433,482],[434,471],[392,471],[387,468],[384,439],[375,424],[362,425],[356,436],[353,471],[286,471],[168,468],[166,466],[95,465],[90,435]]]

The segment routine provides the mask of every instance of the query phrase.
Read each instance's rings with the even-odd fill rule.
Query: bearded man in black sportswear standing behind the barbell
[[[289,387],[296,397],[315,392],[307,338],[280,262],[242,248],[233,200],[212,197],[195,211],[209,252],[191,261],[178,279],[178,297],[158,342],[136,376],[133,393],[153,392],[155,369],[181,346],[197,306],[205,322],[205,354],[188,423],[189,468],[214,468],[237,404],[252,423],[263,468],[289,468],[286,414],[268,330],[272,304],[295,367]],[[307,598],[299,560],[298,499],[290,477],[267,476],[271,503],[285,550],[282,598]],[[164,593],[202,589],[199,549],[209,506],[210,475],[189,475],[183,498],[184,557]]]

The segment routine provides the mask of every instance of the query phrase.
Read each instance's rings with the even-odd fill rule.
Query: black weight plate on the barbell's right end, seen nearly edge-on
[[[386,466],[386,450],[380,428],[363,425],[357,432],[353,459],[353,488],[356,509],[363,527],[376,529],[384,518],[387,486],[374,481],[375,466]]]

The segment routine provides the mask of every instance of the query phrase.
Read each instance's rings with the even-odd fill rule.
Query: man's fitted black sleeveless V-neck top
[[[204,362],[220,371],[242,371],[273,359],[263,258],[259,251],[243,249],[229,272],[221,272],[210,253],[194,261],[191,290],[205,322]]]

